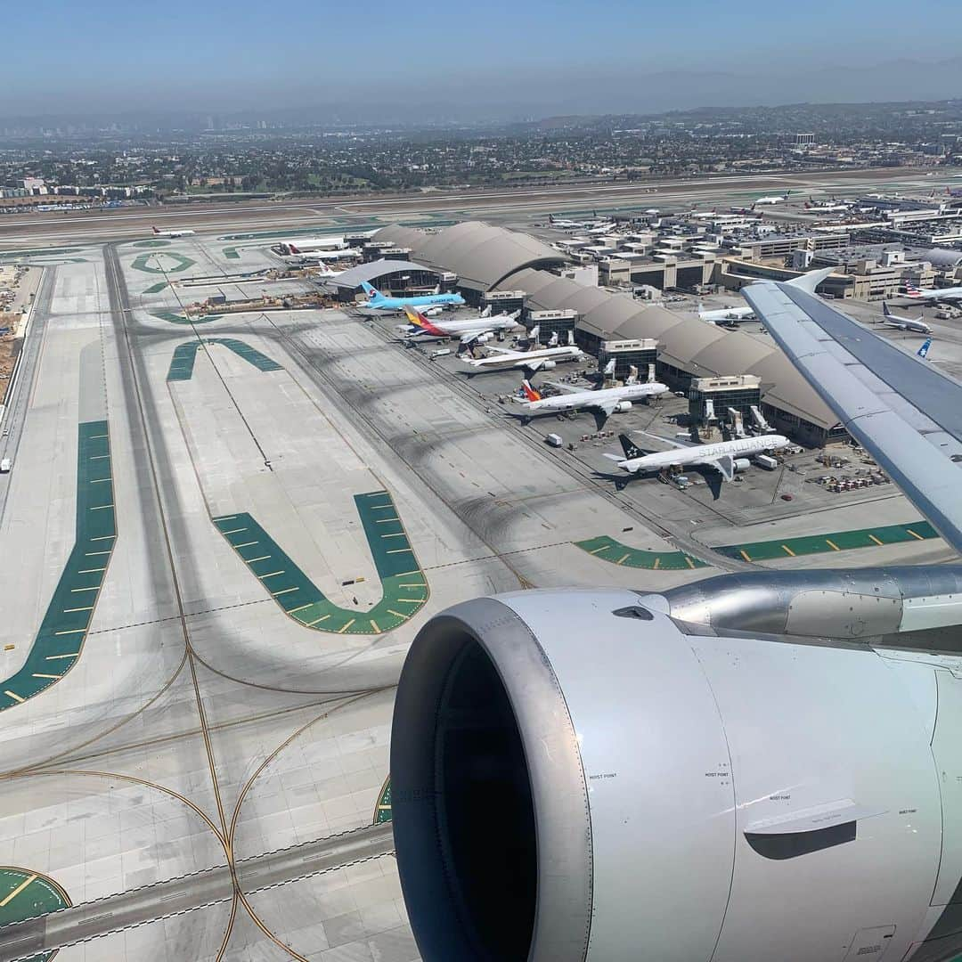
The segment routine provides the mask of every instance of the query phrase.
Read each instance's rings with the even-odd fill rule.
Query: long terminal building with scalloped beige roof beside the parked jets
[[[524,291],[528,311],[574,311],[575,341],[595,356],[603,342],[656,342],[657,377],[675,390],[687,393],[695,378],[754,375],[766,420],[800,443],[819,446],[847,437],[772,341],[562,277],[554,271],[570,258],[537,238],[468,221],[437,233],[390,226],[375,239],[410,248],[421,264],[456,272],[457,288],[469,302],[480,303],[488,291]]]

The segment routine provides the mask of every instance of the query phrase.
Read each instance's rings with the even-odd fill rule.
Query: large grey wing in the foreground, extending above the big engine
[[[742,291],[848,433],[962,551],[962,384],[805,291]]]

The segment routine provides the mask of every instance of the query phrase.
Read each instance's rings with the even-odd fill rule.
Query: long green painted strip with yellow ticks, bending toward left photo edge
[[[23,667],[0,681],[0,711],[39,695],[80,656],[116,539],[114,482],[103,476],[110,470],[110,444],[107,421],[78,426],[76,540]],[[102,560],[91,566],[93,543],[104,541],[111,550],[97,551]]]

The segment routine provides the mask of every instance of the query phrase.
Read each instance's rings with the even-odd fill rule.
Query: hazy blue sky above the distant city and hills
[[[959,0],[37,0],[8,5],[3,28],[6,116],[412,100],[519,115],[962,96]],[[903,66],[904,76],[878,69],[951,59]],[[650,77],[665,71],[693,76]]]

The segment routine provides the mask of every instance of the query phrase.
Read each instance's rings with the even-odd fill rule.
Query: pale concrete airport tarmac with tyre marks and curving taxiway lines
[[[230,283],[276,266],[268,242],[31,257],[47,268],[0,500],[3,884],[30,881],[0,960],[414,960],[383,819],[392,688],[424,620],[474,595],[746,570],[715,548],[812,534],[813,515],[825,533],[917,518],[892,486],[807,483],[810,454],[718,502],[617,485],[594,418],[523,424],[517,374],[468,379],[392,317],[184,316],[207,296],[191,278],[278,290]],[[685,404],[606,430],[671,436]],[[63,915],[15,924],[41,890]]]

